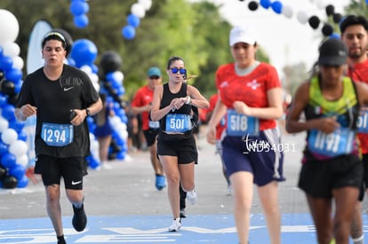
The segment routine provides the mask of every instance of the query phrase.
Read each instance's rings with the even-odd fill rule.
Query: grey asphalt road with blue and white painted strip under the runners
[[[284,177],[279,184],[283,244],[316,243],[304,194],[296,187],[304,134],[284,135]],[[172,214],[166,188],[157,191],[148,152],[130,154],[130,160],[110,161],[112,169],[89,170],[84,178],[84,208],[89,222],[85,232],[75,232],[72,208],[61,195],[63,223],[68,243],[237,243],[233,197],[222,177],[219,155],[199,138],[196,165],[196,205],[187,205],[188,217],[178,233],[167,232]],[[288,149],[286,149],[288,148]],[[254,192],[251,243],[268,243],[268,232]],[[0,189],[0,243],[54,243],[45,210],[44,186],[30,183],[24,189]],[[364,212],[366,211],[364,201]],[[364,224],[367,219],[364,215]],[[364,225],[364,230],[366,229]],[[365,231],[364,231],[365,232]]]

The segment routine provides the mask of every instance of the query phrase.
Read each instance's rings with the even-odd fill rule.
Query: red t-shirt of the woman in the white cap
[[[216,72],[216,87],[220,91],[221,101],[233,108],[235,101],[243,101],[251,107],[268,107],[268,90],[281,87],[276,68],[260,63],[248,75],[236,75],[235,64],[220,66]],[[276,127],[276,120],[260,119],[260,130]]]

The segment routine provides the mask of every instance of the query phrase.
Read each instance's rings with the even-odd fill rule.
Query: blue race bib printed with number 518
[[[257,136],[260,133],[260,121],[258,118],[237,114],[234,109],[228,109],[227,132],[229,136],[234,137]]]

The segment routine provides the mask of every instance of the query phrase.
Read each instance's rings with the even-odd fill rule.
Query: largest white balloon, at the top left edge
[[[0,9],[0,46],[13,43],[20,33],[20,24],[12,12]]]

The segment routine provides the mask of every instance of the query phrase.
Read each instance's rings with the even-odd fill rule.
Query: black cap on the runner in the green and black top
[[[341,66],[348,60],[348,49],[340,39],[330,38],[319,47],[318,65]]]

